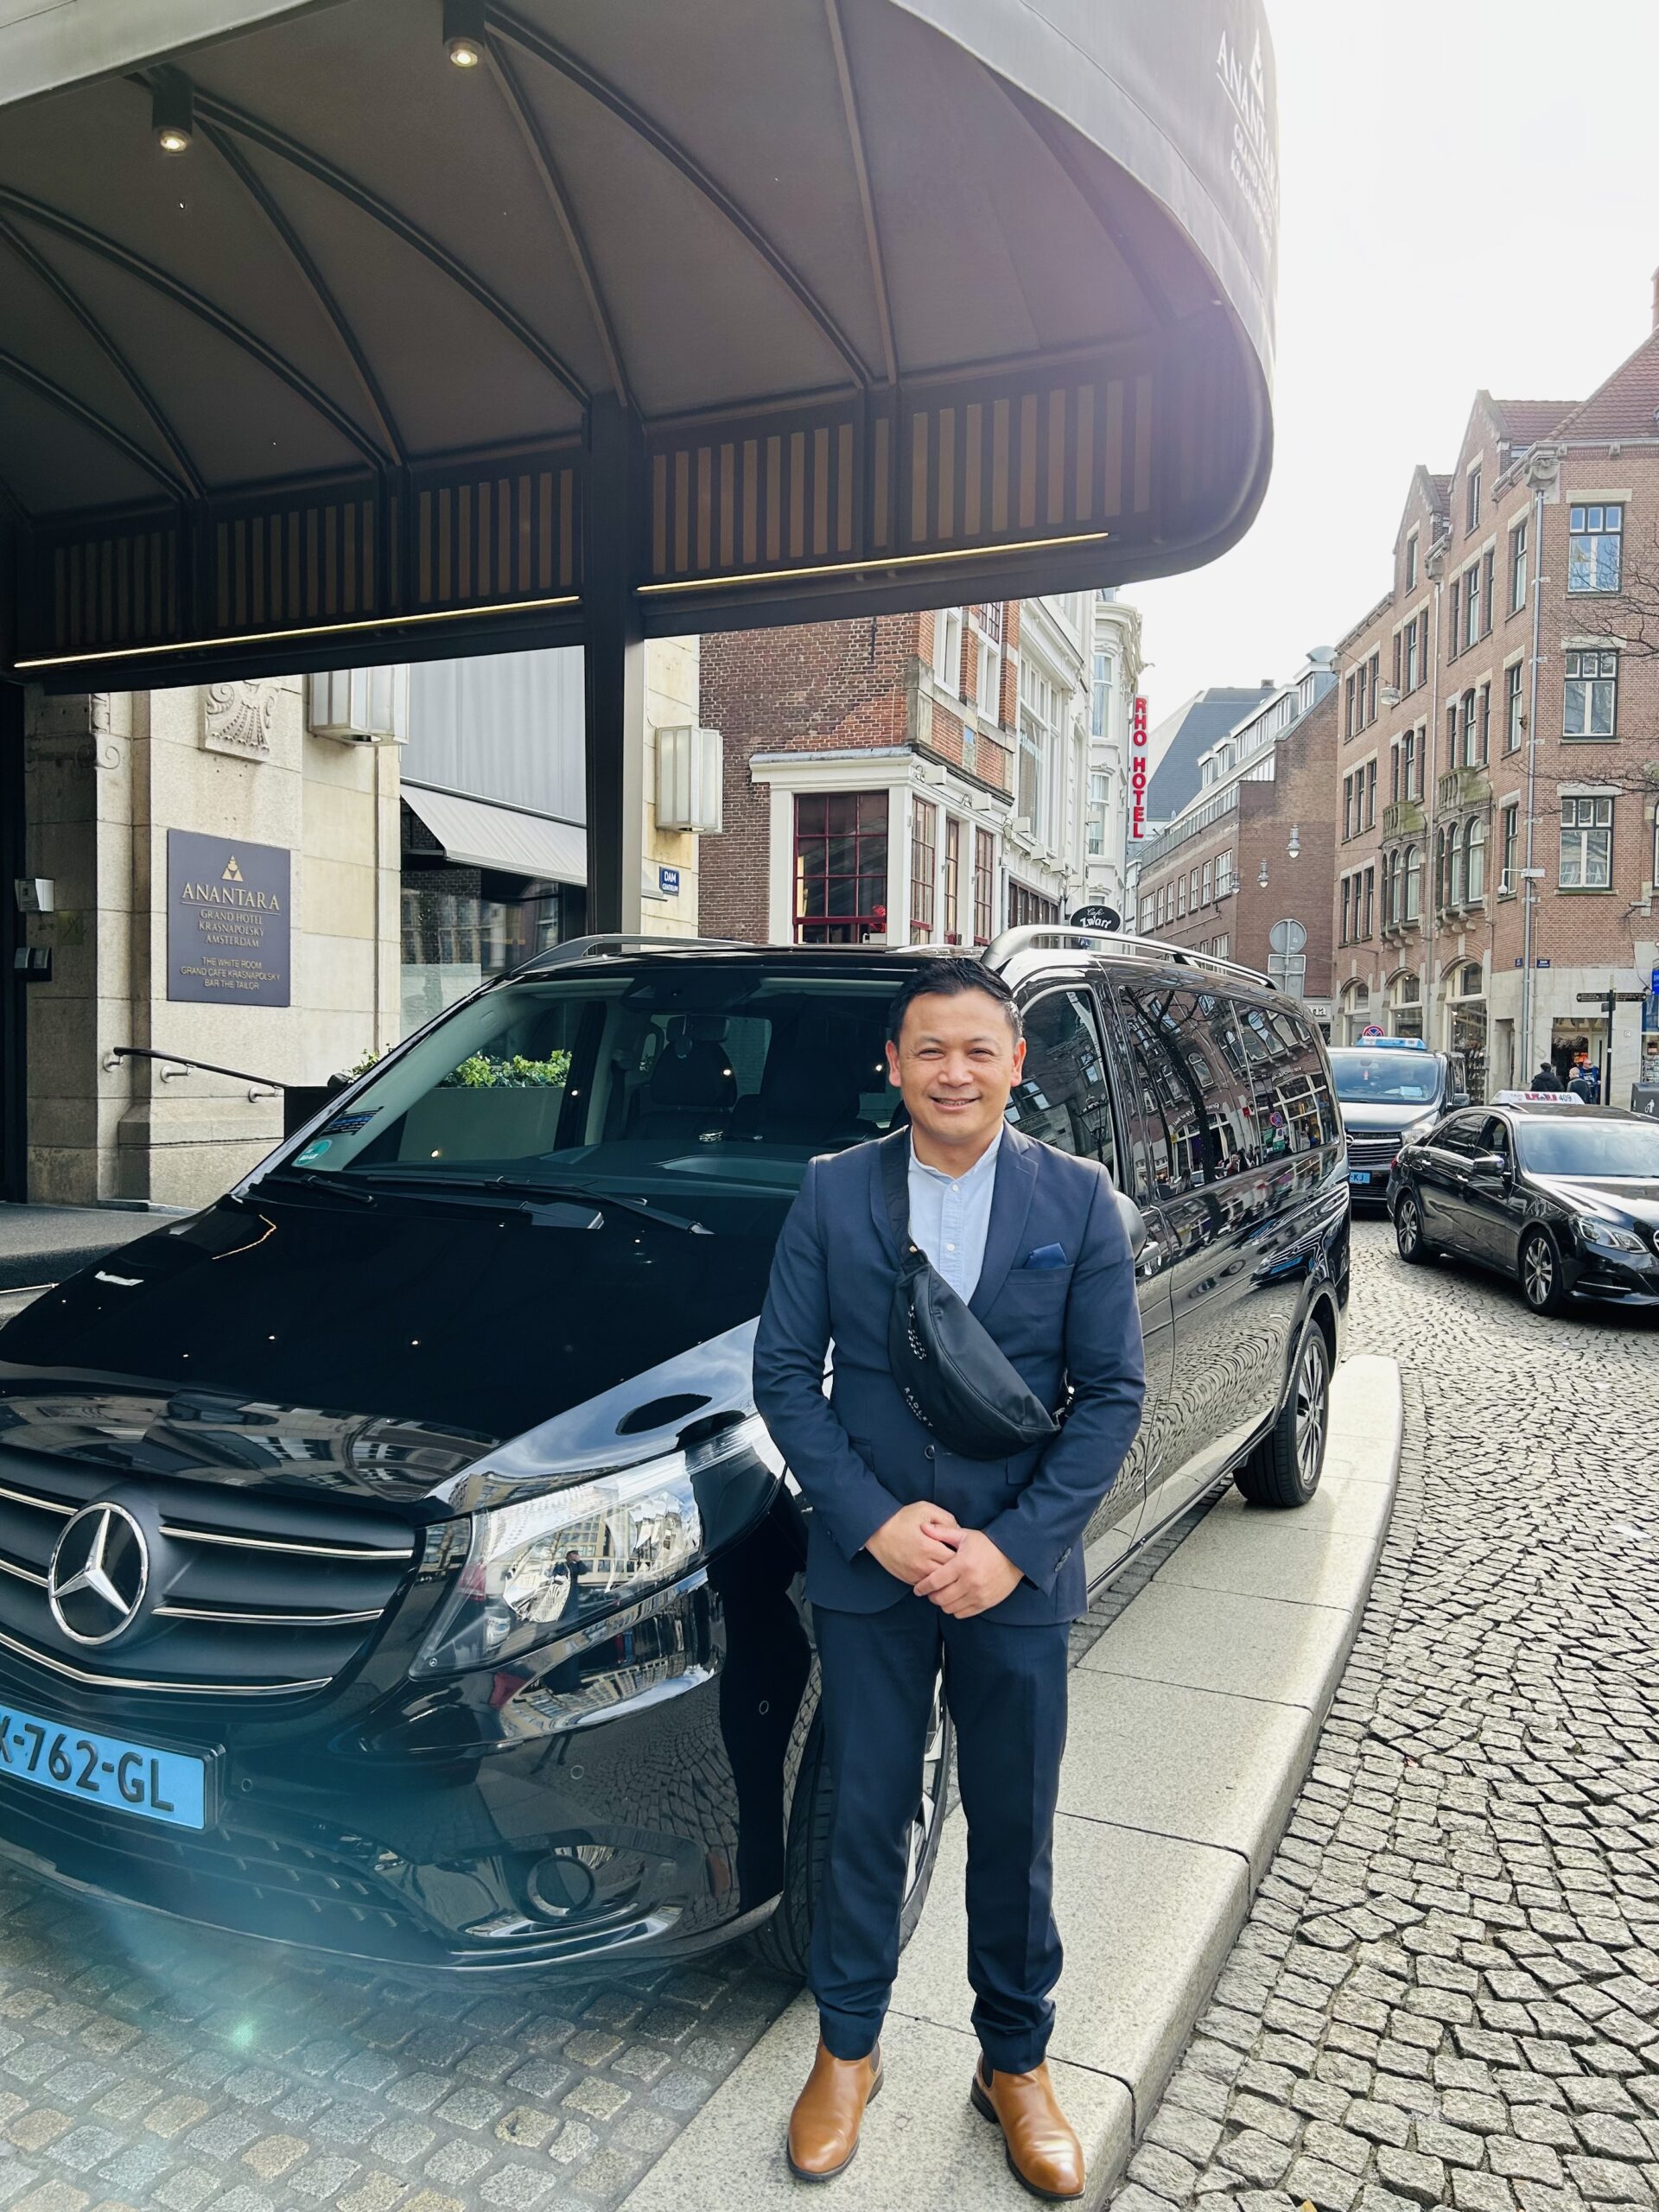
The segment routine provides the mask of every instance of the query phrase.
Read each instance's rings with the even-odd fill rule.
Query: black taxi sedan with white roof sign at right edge
[[[1659,1128],[1617,1106],[1498,1095],[1447,1115],[1394,1166],[1400,1259],[1511,1274],[1540,1314],[1659,1303]]]

